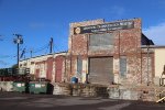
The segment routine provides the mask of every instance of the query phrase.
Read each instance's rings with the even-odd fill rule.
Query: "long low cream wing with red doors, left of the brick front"
[[[44,78],[52,82],[62,82],[67,80],[66,55],[67,53],[55,53],[28,58],[20,62],[20,68],[30,68],[32,80]]]

